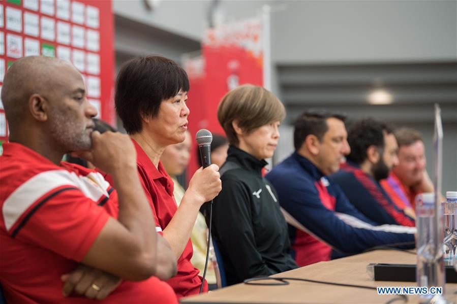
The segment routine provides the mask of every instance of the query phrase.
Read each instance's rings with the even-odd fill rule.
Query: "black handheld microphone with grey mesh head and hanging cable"
[[[211,164],[211,142],[212,134],[207,129],[200,129],[195,134],[195,140],[200,149],[200,157],[203,168],[206,168]],[[206,244],[206,260],[205,269],[203,271],[203,278],[201,280],[200,293],[203,291],[203,285],[205,284],[206,270],[208,269],[208,258],[209,258],[209,244],[211,243],[211,221],[212,221],[212,200],[209,204],[209,227],[208,227],[208,243]]]

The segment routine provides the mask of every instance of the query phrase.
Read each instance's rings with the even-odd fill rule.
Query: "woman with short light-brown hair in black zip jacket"
[[[297,267],[278,195],[262,174],[265,158],[278,145],[284,116],[280,100],[260,86],[239,86],[219,105],[230,147],[220,169],[222,191],[214,199],[212,235],[228,285]]]

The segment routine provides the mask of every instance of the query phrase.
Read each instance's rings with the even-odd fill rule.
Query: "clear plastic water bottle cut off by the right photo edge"
[[[457,211],[457,192],[446,192],[446,202],[443,204],[444,213],[444,240],[443,254],[444,265],[453,265],[457,258],[457,227],[455,225],[455,212]]]

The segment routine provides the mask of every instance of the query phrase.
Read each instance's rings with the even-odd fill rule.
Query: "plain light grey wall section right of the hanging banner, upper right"
[[[273,14],[271,27],[279,63],[457,58],[455,1],[282,3],[288,8]]]

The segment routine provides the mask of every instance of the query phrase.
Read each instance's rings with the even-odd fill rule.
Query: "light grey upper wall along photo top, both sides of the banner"
[[[221,1],[226,21],[272,7],[278,63],[447,61],[457,58],[455,1]],[[209,1],[115,0],[116,16],[199,41]]]

